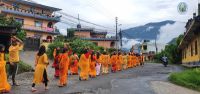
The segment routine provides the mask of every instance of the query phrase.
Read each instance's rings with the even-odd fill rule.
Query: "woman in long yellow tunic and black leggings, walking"
[[[33,84],[32,84],[32,92],[37,91],[35,89],[36,84],[44,83],[45,84],[45,90],[48,89],[48,76],[47,76],[47,66],[49,65],[48,57],[46,54],[46,48],[45,46],[41,46],[36,58],[35,58],[35,73],[33,78]]]

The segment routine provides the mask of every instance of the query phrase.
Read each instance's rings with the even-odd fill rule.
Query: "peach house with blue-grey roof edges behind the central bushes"
[[[104,48],[116,48],[118,41],[116,38],[106,37],[107,32],[105,31],[97,31],[94,28],[81,28],[80,26],[77,26],[77,28],[73,29],[75,30],[74,35],[76,37],[91,41],[97,46]]]

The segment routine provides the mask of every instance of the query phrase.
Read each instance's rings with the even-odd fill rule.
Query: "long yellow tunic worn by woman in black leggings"
[[[49,64],[47,54],[43,54],[42,56],[36,55],[35,63],[37,65],[35,67],[33,83],[40,84],[43,82],[44,70],[47,71],[47,66]]]

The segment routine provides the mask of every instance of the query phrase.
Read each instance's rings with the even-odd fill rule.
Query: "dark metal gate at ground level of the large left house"
[[[26,38],[24,44],[24,50],[38,50],[40,47],[40,39],[38,38]]]

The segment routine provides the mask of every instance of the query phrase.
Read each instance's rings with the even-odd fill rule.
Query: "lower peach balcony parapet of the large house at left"
[[[57,32],[55,32],[55,28],[49,28],[49,27],[36,27],[33,25],[23,25],[22,29],[36,31],[36,32],[46,32],[46,33],[57,34]]]

